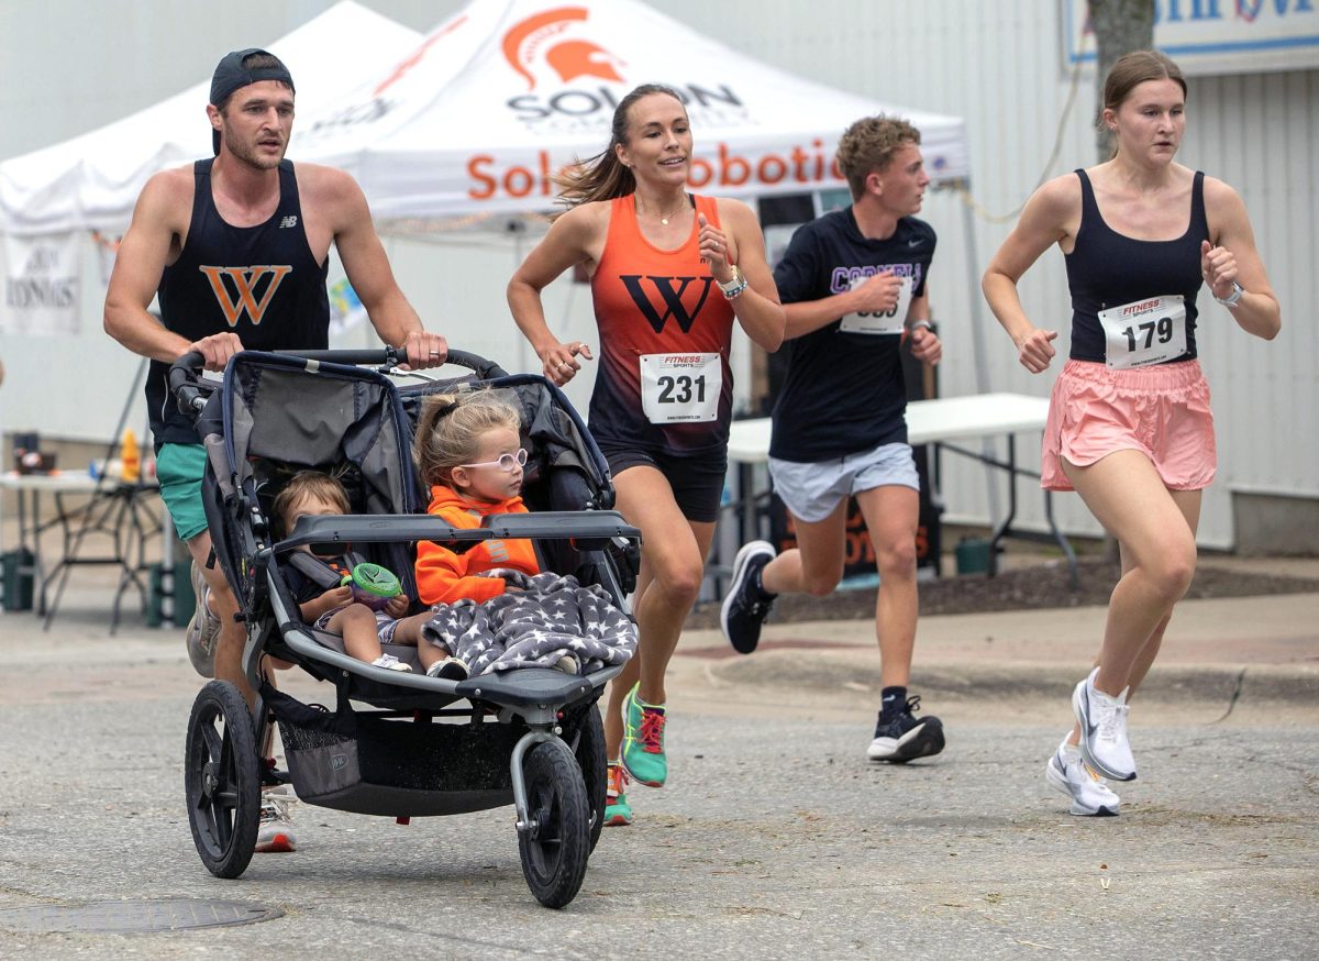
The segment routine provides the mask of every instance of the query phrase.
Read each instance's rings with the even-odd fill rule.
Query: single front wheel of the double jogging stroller
[[[576,758],[562,741],[545,741],[526,754],[528,824],[518,832],[522,874],[536,899],[562,908],[582,888],[591,854],[586,784]]]

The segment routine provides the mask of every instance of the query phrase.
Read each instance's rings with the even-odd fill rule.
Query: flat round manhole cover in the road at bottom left
[[[284,912],[278,908],[264,904],[162,898],[7,908],[0,911],[0,928],[20,933],[78,931],[129,933],[256,924],[282,916]]]

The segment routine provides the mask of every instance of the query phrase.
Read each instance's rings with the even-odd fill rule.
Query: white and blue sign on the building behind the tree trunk
[[[1319,0],[1155,0],[1154,46],[1192,75],[1319,66]],[[1066,62],[1095,63],[1087,0],[1062,0]]]

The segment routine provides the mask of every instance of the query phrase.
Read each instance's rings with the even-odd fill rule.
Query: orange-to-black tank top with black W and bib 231
[[[692,201],[718,227],[715,199]],[[600,368],[588,425],[603,446],[682,455],[728,444],[733,309],[700,256],[699,232],[692,218],[682,247],[660,249],[641,234],[634,195],[611,203],[591,277]]]

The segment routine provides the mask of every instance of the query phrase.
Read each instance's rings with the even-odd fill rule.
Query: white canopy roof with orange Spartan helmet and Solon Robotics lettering
[[[921,129],[935,180],[968,173],[959,117],[803,81],[637,0],[472,0],[356,95],[321,114],[299,104],[290,156],[350,170],[376,219],[396,226],[549,210],[553,173],[601,150],[619,99],[650,82],[687,103],[696,190],[843,186],[831,169],[838,137],[876,112]]]

